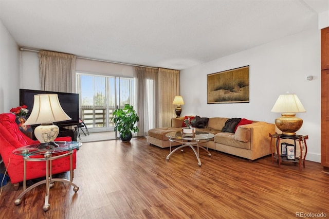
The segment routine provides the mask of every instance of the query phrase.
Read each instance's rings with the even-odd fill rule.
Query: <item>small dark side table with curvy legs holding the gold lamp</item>
[[[269,133],[269,137],[271,138],[270,143],[269,143],[269,147],[270,147],[270,151],[272,154],[272,163],[274,163],[274,159],[278,160],[279,163],[279,168],[281,167],[281,162],[282,161],[286,161],[286,162],[293,162],[293,163],[298,163],[299,164],[299,171],[302,171],[302,162],[303,162],[303,167],[305,168],[305,158],[306,158],[306,154],[307,154],[307,144],[306,144],[306,139],[308,139],[307,135],[283,135],[283,134],[270,134]],[[275,154],[273,152],[272,149],[272,139],[275,138],[276,139],[276,149],[277,149],[277,154]],[[289,159],[287,155],[283,156],[282,152],[280,154],[280,140],[284,140],[284,139],[290,139],[294,141],[294,159]],[[297,147],[297,142],[299,144],[299,149],[300,149],[300,155],[296,156],[296,147]],[[282,149],[281,149],[282,150]],[[303,152],[305,151],[305,152]],[[304,156],[303,156],[304,154]]]

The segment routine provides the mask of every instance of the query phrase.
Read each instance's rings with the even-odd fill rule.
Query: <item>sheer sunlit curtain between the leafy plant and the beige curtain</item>
[[[158,127],[158,69],[134,67],[136,112],[139,116],[137,136],[146,136]]]

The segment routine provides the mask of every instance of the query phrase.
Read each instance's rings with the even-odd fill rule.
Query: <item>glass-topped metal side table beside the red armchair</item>
[[[72,155],[74,153],[75,149],[78,149],[81,147],[82,143],[77,141],[56,141],[56,143],[59,145],[57,148],[46,148],[46,149],[39,149],[40,143],[37,144],[30,144],[26,145],[21,148],[17,148],[13,150],[13,154],[21,155],[23,156],[24,160],[24,178],[23,178],[23,192],[16,198],[15,205],[20,205],[22,203],[22,197],[33,188],[46,184],[46,196],[45,196],[45,204],[43,206],[44,211],[48,211],[50,208],[50,205],[48,203],[49,199],[49,189],[53,187],[54,181],[61,181],[61,182],[67,182],[71,186],[73,186],[73,191],[77,192],[79,190],[79,187],[74,184],[73,181],[73,163],[72,163]],[[42,155],[43,157],[31,157],[34,155]],[[66,156],[70,156],[70,180],[64,179],[64,178],[52,178],[51,177],[51,161],[60,159]],[[46,161],[46,179],[42,180],[40,182],[37,182],[36,184],[33,184],[29,188],[26,189],[26,162],[40,162],[40,161]]]

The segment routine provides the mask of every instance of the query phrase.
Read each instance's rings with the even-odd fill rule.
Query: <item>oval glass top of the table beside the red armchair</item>
[[[31,155],[44,155],[46,152],[49,154],[56,154],[66,151],[72,151],[81,147],[82,143],[78,141],[56,141],[58,144],[57,148],[45,148],[39,149],[40,143],[26,145],[21,148],[16,148],[12,151],[13,154],[21,156],[31,156]]]

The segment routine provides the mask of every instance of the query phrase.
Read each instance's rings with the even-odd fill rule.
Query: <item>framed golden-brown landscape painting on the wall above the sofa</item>
[[[249,66],[207,75],[208,103],[249,103]]]

